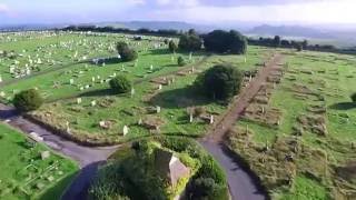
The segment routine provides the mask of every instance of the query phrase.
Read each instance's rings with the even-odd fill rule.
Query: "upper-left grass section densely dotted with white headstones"
[[[1,47],[2,82],[65,68],[93,56],[108,56],[106,50],[113,48],[106,37],[76,36],[63,32],[39,32],[38,34],[43,38],[32,39],[34,36],[27,36],[24,41],[12,41]]]

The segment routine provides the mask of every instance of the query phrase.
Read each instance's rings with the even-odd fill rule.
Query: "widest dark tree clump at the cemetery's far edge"
[[[219,53],[244,54],[247,50],[246,38],[234,30],[215,30],[204,37],[204,44],[206,50]]]

